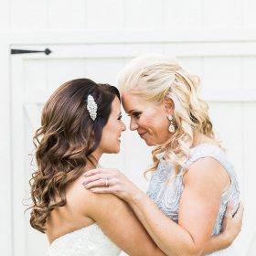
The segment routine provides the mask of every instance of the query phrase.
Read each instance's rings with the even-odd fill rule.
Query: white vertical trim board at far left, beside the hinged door
[[[0,39],[0,66],[5,67],[1,73],[1,93],[0,93],[0,200],[2,219],[0,229],[1,253],[12,255],[13,252],[13,208],[12,208],[12,158],[11,158],[11,95],[9,81],[9,45],[4,38]]]

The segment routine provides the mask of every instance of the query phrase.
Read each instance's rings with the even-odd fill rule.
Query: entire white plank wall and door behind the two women
[[[256,255],[255,11],[253,0],[1,0],[1,255],[45,255],[48,246],[23,213],[31,138],[44,101],[70,79],[114,84],[123,65],[145,52],[176,55],[201,77],[214,128],[240,180],[245,218],[235,246],[240,255]],[[10,48],[52,53],[11,56]],[[149,149],[128,131],[121,154],[102,160],[143,189],[149,164]]]

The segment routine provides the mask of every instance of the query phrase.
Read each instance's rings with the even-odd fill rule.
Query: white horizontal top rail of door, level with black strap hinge
[[[249,65],[250,58],[256,57],[256,42],[247,43],[145,43],[145,44],[85,44],[85,45],[38,45],[21,46],[14,45],[12,48],[28,48],[44,50],[49,48],[52,53],[46,57],[44,53],[30,53],[23,56],[24,59],[84,59],[84,58],[133,58],[148,52],[158,52],[176,56],[179,58],[212,58],[211,62],[225,58],[246,58]],[[214,50],[212,50],[214,48]],[[234,59],[236,60],[236,59]],[[252,60],[253,62],[254,60]],[[221,63],[219,63],[221,64]],[[234,65],[231,64],[230,65]],[[229,65],[229,66],[230,66]],[[240,65],[240,64],[238,64]],[[229,67],[228,67],[229,68]],[[252,67],[253,69],[253,63]],[[223,70],[224,72],[224,70]]]

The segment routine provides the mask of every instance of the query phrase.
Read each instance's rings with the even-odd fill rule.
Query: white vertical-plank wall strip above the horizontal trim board
[[[1,1],[1,28],[20,30],[255,28],[253,0]]]

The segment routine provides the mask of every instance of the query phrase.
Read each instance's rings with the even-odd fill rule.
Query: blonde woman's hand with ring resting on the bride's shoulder
[[[94,193],[112,193],[129,202],[139,190],[118,169],[98,168],[85,173],[82,185]]]

